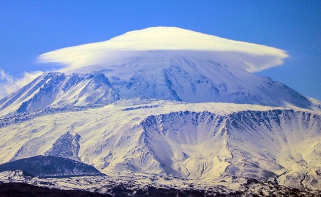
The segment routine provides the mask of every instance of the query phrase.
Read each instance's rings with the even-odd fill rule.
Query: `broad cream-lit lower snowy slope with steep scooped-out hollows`
[[[61,153],[106,174],[156,173],[207,182],[229,175],[318,189],[321,114],[302,110],[122,100],[4,126],[0,161]],[[70,132],[76,133],[68,135],[70,143],[57,146]]]

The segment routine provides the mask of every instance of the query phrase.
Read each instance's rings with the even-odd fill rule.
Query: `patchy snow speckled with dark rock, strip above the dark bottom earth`
[[[145,191],[148,195],[150,187],[157,188],[158,194],[161,189],[168,192],[178,190],[179,194],[183,191],[199,191],[204,196],[320,196],[318,191],[290,190],[289,188],[275,185],[271,182],[254,181],[242,177],[223,176],[215,180],[214,184],[197,180],[182,179],[175,177],[165,177],[160,175],[146,175],[136,173],[134,176],[82,176],[69,178],[38,178],[25,175],[22,171],[0,172],[0,181],[28,183],[35,186],[57,188],[61,190],[82,190],[112,196],[126,195],[132,196],[136,191]],[[117,189],[116,189],[117,188]],[[114,190],[116,189],[116,190]],[[121,194],[115,193],[116,191]],[[194,193],[195,195],[195,193]]]

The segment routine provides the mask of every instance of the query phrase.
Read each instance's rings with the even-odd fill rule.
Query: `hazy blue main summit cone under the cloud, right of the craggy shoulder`
[[[236,67],[222,66],[200,52],[139,54],[104,73],[127,98],[147,96],[186,102],[233,102],[268,106],[320,106],[282,83]],[[144,57],[144,58],[143,58]]]

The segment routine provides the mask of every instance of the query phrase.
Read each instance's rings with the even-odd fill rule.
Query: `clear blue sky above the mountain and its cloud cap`
[[[286,50],[258,72],[321,100],[321,1],[0,1],[0,69],[46,70],[45,52],[174,26]]]

